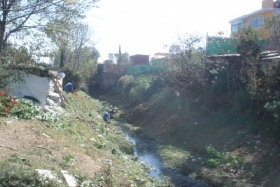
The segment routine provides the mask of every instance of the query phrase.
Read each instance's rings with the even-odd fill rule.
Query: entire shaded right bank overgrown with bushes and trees
[[[102,98],[126,110],[122,117],[136,133],[156,140],[167,168],[211,186],[273,186],[279,183],[270,167],[280,154],[272,151],[279,141],[278,66],[262,61],[265,43],[253,29],[237,37],[241,56],[232,61],[207,59],[200,39],[190,37],[165,72],[121,77]]]

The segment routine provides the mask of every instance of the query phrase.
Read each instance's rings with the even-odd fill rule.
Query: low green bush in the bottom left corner
[[[0,187],[57,187],[52,180],[44,180],[36,171],[19,166],[5,166],[0,170]]]

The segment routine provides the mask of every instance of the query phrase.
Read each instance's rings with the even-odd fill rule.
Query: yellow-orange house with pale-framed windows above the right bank
[[[258,30],[258,33],[261,37],[267,38],[268,36],[264,32],[264,20],[266,17],[278,14],[280,12],[279,0],[273,2],[273,0],[263,0],[262,8],[256,10],[249,14],[235,18],[229,23],[231,24],[231,35],[238,32],[238,30],[251,26]]]

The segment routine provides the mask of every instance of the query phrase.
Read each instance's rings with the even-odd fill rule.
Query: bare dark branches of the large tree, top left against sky
[[[14,35],[42,33],[46,26],[60,32],[85,16],[97,0],[1,0],[0,52]],[[64,24],[60,24],[64,23]],[[16,37],[16,35],[14,35]]]

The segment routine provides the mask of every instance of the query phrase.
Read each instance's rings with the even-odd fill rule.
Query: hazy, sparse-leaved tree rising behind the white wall
[[[82,80],[86,80],[95,73],[100,56],[91,41],[93,31],[87,24],[81,22],[68,25],[67,28],[63,34],[56,33],[52,29],[45,29],[48,37],[59,47],[55,64],[58,66],[63,60],[65,68],[74,70],[80,74]]]

